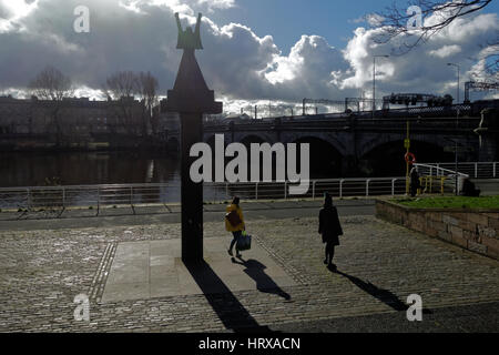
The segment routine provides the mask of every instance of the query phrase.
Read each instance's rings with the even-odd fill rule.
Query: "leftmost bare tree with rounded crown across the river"
[[[49,103],[52,123],[57,132],[57,145],[60,145],[62,139],[60,110],[62,101],[65,98],[71,98],[74,93],[71,79],[58,69],[49,65],[31,80],[28,87],[34,97]]]

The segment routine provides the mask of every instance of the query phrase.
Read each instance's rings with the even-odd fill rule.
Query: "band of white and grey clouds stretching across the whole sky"
[[[175,49],[174,12],[181,12],[184,26],[192,26],[197,11],[208,11],[202,24],[205,50],[196,52],[197,60],[210,88],[224,100],[241,103],[305,97],[342,100],[370,92],[373,55],[391,50],[390,44],[373,42],[378,30],[358,28],[344,50],[320,36],[303,36],[284,55],[272,36],[258,37],[241,23],[218,26],[210,18],[210,11],[235,7],[232,0],[85,0],[90,33],[72,30],[73,9],[81,0],[32,2],[29,11],[28,7],[13,11],[4,3],[0,0],[0,14],[4,13],[9,28],[2,32],[0,22],[0,65],[9,70],[0,72],[0,87],[11,91],[26,87],[43,67],[52,64],[73,78],[82,94],[95,97],[105,78],[119,70],[151,71],[164,94],[173,87],[182,54]],[[483,65],[479,58],[470,57],[479,55],[478,44],[495,38],[498,30],[496,14],[470,17],[407,55],[379,59],[379,95],[452,89],[455,72],[445,64],[459,62],[465,74]]]

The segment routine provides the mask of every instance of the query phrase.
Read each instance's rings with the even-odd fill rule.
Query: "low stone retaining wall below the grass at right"
[[[411,209],[378,200],[376,216],[499,260],[499,210]]]

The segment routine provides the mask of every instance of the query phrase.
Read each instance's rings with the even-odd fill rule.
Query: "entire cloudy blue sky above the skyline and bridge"
[[[99,98],[105,78],[122,70],[150,71],[165,94],[182,54],[175,49],[174,12],[184,27],[202,12],[204,50],[196,57],[224,102],[369,97],[373,55],[391,53],[397,42],[375,43],[379,30],[363,19],[391,1],[0,0],[0,93],[22,95],[50,64],[71,77],[80,95]],[[73,29],[79,6],[89,9],[88,33]],[[378,59],[377,98],[391,92],[455,97],[456,70],[446,64],[459,63],[462,89],[483,67],[480,58],[491,50],[483,45],[497,42],[498,7],[491,2],[455,21],[405,55]]]

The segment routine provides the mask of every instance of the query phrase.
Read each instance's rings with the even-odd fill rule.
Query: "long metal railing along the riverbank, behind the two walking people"
[[[406,178],[310,180],[303,195],[289,195],[289,182],[205,183],[206,203],[224,202],[238,195],[244,200],[318,199],[325,192],[336,197],[398,195],[405,193]],[[109,184],[27,186],[0,189],[0,209],[64,211],[67,207],[95,209],[176,203],[181,200],[180,184]],[[61,212],[62,213],[62,212]]]

